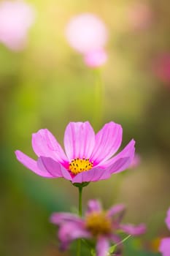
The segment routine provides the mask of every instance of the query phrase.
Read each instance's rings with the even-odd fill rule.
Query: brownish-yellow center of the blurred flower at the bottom
[[[112,222],[105,212],[92,212],[85,220],[85,227],[93,236],[107,235],[112,232]]]

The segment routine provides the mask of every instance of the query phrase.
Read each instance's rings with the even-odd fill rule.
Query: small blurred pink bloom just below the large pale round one
[[[84,60],[88,67],[100,67],[107,61],[107,53],[104,50],[95,50],[86,53]]]

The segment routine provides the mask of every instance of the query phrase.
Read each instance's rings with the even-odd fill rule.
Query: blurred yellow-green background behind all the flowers
[[[141,163],[85,187],[83,207],[90,198],[101,199],[105,208],[125,203],[126,222],[147,223],[137,247],[142,255],[152,255],[155,238],[169,234],[164,218],[170,206],[170,80],[158,78],[152,65],[170,51],[170,4],[142,1],[148,7],[146,18],[134,7],[139,1],[28,3],[36,9],[36,21],[26,48],[14,52],[0,44],[0,255],[63,255],[49,217],[53,211],[74,211],[77,189],[61,178],[36,176],[20,165],[14,151],[35,158],[33,132],[47,128],[63,145],[69,121],[86,120],[96,132],[108,121],[120,123],[122,146],[134,138]],[[94,113],[96,72],[64,36],[69,18],[82,12],[98,15],[109,30],[109,59],[101,68],[102,116],[99,110]],[[128,243],[125,255],[137,255]]]

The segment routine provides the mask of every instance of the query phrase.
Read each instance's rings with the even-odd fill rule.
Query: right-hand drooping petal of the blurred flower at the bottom
[[[144,224],[137,226],[131,224],[121,224],[120,229],[132,236],[139,236],[146,232],[146,226]]]

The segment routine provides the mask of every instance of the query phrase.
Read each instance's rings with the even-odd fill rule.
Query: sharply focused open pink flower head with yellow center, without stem
[[[66,178],[72,183],[99,181],[120,173],[134,159],[134,140],[115,157],[122,142],[122,127],[109,122],[95,135],[88,121],[71,122],[66,127],[64,148],[47,129],[32,135],[35,161],[15,151],[18,161],[34,173],[45,178]]]

